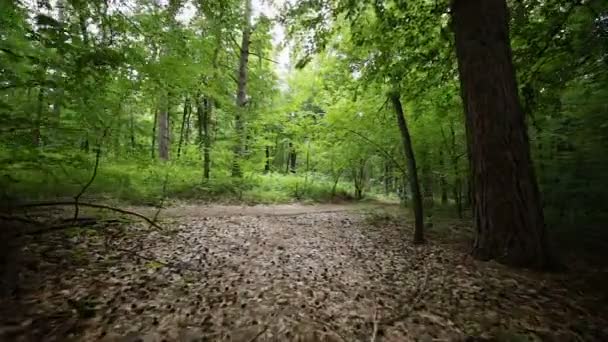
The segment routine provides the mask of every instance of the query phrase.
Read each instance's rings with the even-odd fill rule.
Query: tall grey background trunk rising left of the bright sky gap
[[[238,84],[236,92],[236,116],[234,129],[236,143],[234,147],[234,161],[232,163],[232,176],[241,177],[240,161],[243,158],[244,148],[244,114],[247,104],[247,67],[249,64],[249,43],[251,38],[251,0],[245,1],[245,16],[243,18],[243,37],[241,41],[241,56],[239,58]]]

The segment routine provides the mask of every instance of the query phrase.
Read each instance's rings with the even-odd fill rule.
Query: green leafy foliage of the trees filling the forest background
[[[0,3],[0,185],[5,199],[87,191],[248,202],[402,199],[405,158],[387,93],[398,91],[427,212],[468,204],[463,104],[448,1],[301,1],[287,77],[274,21],[253,22],[242,178],[230,177],[242,1]],[[56,5],[53,3],[53,5]],[[605,2],[509,2],[522,105],[551,226],[605,222]],[[399,29],[395,29],[399,28]],[[168,129],[161,132],[161,114]],[[208,131],[204,129],[207,123]],[[166,136],[169,160],[159,160]],[[161,139],[162,138],[162,139]],[[209,148],[210,179],[201,162]],[[166,181],[168,179],[168,181]]]

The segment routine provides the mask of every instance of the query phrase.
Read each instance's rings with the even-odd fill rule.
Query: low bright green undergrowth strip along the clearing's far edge
[[[38,164],[39,165],[39,164]],[[76,195],[92,175],[94,162],[46,163],[43,167],[23,163],[4,164],[0,187],[5,200],[47,200]],[[149,163],[137,160],[103,160],[85,198],[108,198],[132,204],[155,204],[170,199],[202,202],[286,203],[330,202],[351,199],[352,186],[319,175],[261,175],[245,172],[242,178],[212,173],[203,181],[198,165]]]

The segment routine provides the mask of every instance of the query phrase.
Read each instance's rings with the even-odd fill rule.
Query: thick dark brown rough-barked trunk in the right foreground
[[[506,1],[454,0],[452,16],[473,176],[473,255],[546,266],[544,217],[515,81]]]

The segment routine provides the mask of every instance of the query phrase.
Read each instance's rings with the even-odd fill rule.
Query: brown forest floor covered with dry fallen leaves
[[[162,210],[161,228],[32,235],[0,340],[608,340],[606,298],[580,273],[472,260],[466,221],[435,219],[414,246],[401,211],[192,204]]]

